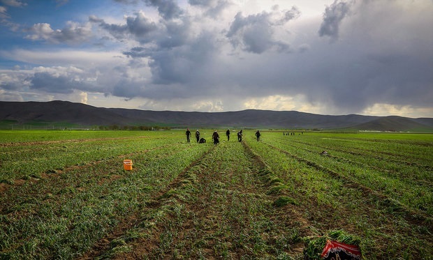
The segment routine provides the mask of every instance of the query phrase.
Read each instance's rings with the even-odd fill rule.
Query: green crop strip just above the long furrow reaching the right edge
[[[432,215],[433,213],[432,176],[428,169],[420,168],[417,165],[396,165],[389,161],[376,161],[369,158],[370,156],[367,154],[353,156],[351,153],[334,151],[331,147],[326,149],[330,156],[323,156],[320,149],[316,148],[314,151],[314,147],[316,147],[314,144],[302,145],[298,142],[293,145],[290,140],[279,139],[272,145],[337,171],[342,176],[354,179],[356,183],[386,194],[388,197],[396,199],[405,206],[425,215]],[[402,151],[404,151],[403,148]],[[358,150],[358,153],[361,152]],[[334,154],[337,154],[338,157]],[[378,163],[379,165],[376,165]]]

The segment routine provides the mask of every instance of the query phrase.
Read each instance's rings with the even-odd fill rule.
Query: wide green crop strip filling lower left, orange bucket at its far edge
[[[110,155],[10,186],[0,197],[0,258],[80,256],[208,148],[178,142],[130,153],[133,171],[124,171],[122,160]]]

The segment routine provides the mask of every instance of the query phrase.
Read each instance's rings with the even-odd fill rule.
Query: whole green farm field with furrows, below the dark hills
[[[219,132],[0,131],[0,259],[433,259],[433,135]]]

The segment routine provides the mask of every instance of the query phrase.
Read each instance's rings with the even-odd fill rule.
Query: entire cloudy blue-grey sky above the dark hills
[[[0,0],[0,100],[433,117],[433,0]]]

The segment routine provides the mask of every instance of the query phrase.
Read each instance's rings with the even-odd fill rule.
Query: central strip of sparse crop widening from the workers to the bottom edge
[[[276,206],[265,167],[241,143],[222,142],[83,259],[301,257],[300,235],[310,233],[296,211]]]

